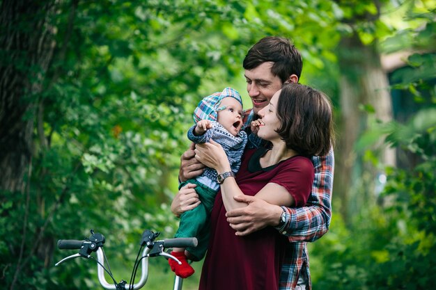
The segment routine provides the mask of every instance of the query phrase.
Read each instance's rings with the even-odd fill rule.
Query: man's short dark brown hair
[[[253,70],[262,63],[272,61],[271,72],[279,76],[281,83],[285,83],[289,76],[302,74],[303,61],[294,45],[287,38],[267,36],[259,40],[244,58],[245,70]]]

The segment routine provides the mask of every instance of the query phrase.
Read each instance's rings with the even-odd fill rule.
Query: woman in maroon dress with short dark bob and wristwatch
[[[247,150],[240,171],[231,175],[226,154],[211,140],[196,149],[196,158],[219,173],[220,193],[211,214],[208,253],[200,289],[278,289],[281,257],[287,243],[273,228],[236,236],[226,211],[243,207],[236,195],[256,195],[271,204],[300,207],[313,183],[312,155],[327,154],[332,146],[332,107],[327,96],[291,83],[259,111],[251,124],[270,147]]]

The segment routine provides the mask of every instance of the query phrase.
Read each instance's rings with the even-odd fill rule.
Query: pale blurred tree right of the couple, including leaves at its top
[[[383,2],[387,1],[338,1],[343,10],[341,26],[343,37],[338,44],[339,98],[341,125],[338,147],[334,193],[341,200],[341,213],[349,220],[358,199],[371,198],[371,188],[377,178],[376,168],[362,168],[364,156],[354,150],[356,140],[372,122],[392,120],[389,81],[380,63],[379,40],[386,24],[380,20]],[[365,110],[362,110],[365,108]],[[367,112],[373,112],[369,114]],[[377,144],[373,154],[384,164],[395,165],[395,152]],[[378,151],[378,152],[377,152]],[[366,172],[366,174],[364,174]],[[361,183],[353,182],[360,179]],[[356,194],[356,186],[363,191]],[[365,194],[366,193],[366,194]],[[359,196],[360,195],[360,196]]]

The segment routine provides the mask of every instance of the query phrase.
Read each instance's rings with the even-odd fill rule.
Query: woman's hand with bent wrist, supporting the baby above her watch
[[[223,147],[212,139],[210,139],[210,143],[197,144],[194,152],[198,161],[209,168],[217,170],[218,173],[231,170]]]

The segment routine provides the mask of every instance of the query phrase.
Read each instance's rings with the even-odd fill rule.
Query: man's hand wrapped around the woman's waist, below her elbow
[[[247,207],[228,211],[227,222],[235,229],[237,236],[246,236],[269,225],[279,225],[283,210],[281,207],[250,195],[235,196],[238,202],[247,203]]]

